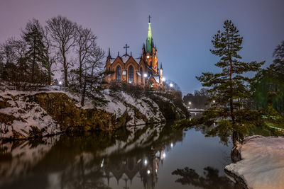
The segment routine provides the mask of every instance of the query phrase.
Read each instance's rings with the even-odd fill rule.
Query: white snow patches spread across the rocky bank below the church
[[[67,96],[75,101],[77,108],[82,109],[101,109],[107,113],[112,113],[116,118],[121,118],[121,115],[128,113],[130,120],[126,125],[144,125],[146,122],[153,120],[153,122],[163,122],[165,118],[160,111],[158,105],[151,100],[151,98],[135,98],[123,91],[111,92],[104,91],[104,98],[108,101],[107,105],[94,107],[94,103],[85,98],[84,106],[80,104],[80,96],[75,93],[61,91],[62,88],[58,86],[45,86],[45,91],[16,91],[5,90],[0,91],[0,100],[6,101],[11,107],[1,108],[0,113],[6,115],[13,115],[16,120],[13,120],[11,125],[1,123],[0,137],[13,137],[13,131],[18,132],[23,137],[29,137],[32,127],[37,127],[38,130],[45,130],[43,136],[48,134],[56,134],[60,131],[58,125],[53,118],[46,113],[46,111],[33,101],[29,101],[29,96],[37,93],[65,93]],[[137,110],[143,115],[142,118],[137,118]]]

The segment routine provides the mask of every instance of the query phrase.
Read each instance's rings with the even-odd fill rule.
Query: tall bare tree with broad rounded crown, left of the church
[[[55,47],[60,50],[62,56],[62,65],[64,69],[65,86],[68,86],[67,73],[71,62],[67,61],[67,54],[75,46],[76,23],[68,20],[66,17],[57,16],[47,21],[48,31],[55,42]]]

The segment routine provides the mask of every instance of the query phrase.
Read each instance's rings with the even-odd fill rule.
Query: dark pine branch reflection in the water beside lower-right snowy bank
[[[207,166],[203,169],[203,176],[200,176],[192,168],[177,168],[172,175],[181,176],[175,182],[182,185],[193,185],[200,188],[241,188],[240,185],[232,183],[226,176],[219,176],[219,170]]]

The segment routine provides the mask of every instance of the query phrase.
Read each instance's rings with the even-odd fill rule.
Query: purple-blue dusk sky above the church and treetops
[[[127,43],[133,57],[141,55],[148,32],[148,15],[166,79],[182,93],[202,88],[195,78],[217,73],[218,57],[209,51],[212,37],[230,19],[244,37],[244,62],[273,61],[273,50],[284,40],[283,0],[0,0],[0,42],[18,37],[28,20],[45,25],[53,16],[91,28],[98,45],[115,57]]]

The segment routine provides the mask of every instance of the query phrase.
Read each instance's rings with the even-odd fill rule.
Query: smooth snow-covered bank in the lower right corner
[[[243,178],[249,188],[282,188],[284,137],[253,136],[239,147],[241,161],[226,170]]]

